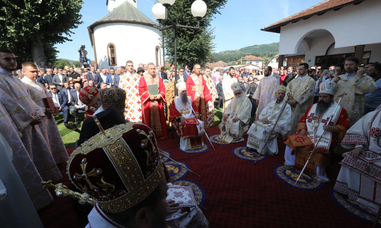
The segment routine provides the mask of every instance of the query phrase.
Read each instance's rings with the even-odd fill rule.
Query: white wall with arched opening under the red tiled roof
[[[372,22],[381,21],[380,12],[381,1],[367,0],[359,5],[344,6],[338,11],[331,10],[321,16],[315,15],[306,20],[289,23],[280,28],[279,54],[295,54],[303,38],[311,31],[319,29],[327,30],[333,35],[335,48],[381,43],[381,30],[377,27],[372,29],[370,25]],[[362,30],[364,26],[367,29]],[[313,46],[308,48],[313,49]],[[326,50],[327,48],[324,51]]]

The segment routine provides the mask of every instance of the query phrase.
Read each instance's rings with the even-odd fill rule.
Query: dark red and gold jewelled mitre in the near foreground
[[[99,128],[100,133],[70,155],[67,174],[102,210],[121,212],[141,202],[160,183],[164,173],[159,148],[154,132],[142,123]]]

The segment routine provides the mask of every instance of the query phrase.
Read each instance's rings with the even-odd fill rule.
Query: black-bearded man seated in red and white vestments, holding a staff
[[[299,73],[305,74],[304,69],[299,68]],[[307,136],[313,144],[320,137],[324,139],[320,140],[317,144],[317,149],[314,150],[311,159],[309,159],[304,173],[312,175],[320,182],[327,182],[329,179],[325,174],[325,168],[331,163],[331,153],[333,153],[336,144],[340,143],[341,139],[343,139],[344,133],[349,126],[349,120],[346,110],[340,105],[335,110],[338,105],[333,100],[335,90],[337,89],[336,83],[329,81],[322,82],[320,88],[319,102],[307,108],[299,120],[296,133],[294,133],[295,135]],[[328,123],[331,115],[333,115],[331,122]],[[295,119],[296,117],[294,117]],[[287,145],[285,150],[285,166],[293,166],[297,170],[302,170],[306,164],[306,158],[311,154],[311,147],[309,145],[293,146],[289,138],[285,144]]]

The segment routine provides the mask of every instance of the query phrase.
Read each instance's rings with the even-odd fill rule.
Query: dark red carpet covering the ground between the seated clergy
[[[208,130],[208,135],[219,133],[218,127]],[[284,163],[284,144],[278,141],[279,154],[268,156],[257,165],[235,157],[232,149],[246,146],[245,141],[210,148],[199,154],[180,152],[176,139],[159,140],[158,146],[168,150],[172,158],[187,163],[200,177],[188,173],[184,179],[200,184],[205,191],[204,214],[211,228],[214,227],[371,227],[354,217],[333,201],[330,190],[340,169],[339,160],[327,168],[331,183],[318,190],[300,190],[278,179],[273,169]],[[204,136],[204,143],[208,143]],[[69,152],[72,150],[68,149]],[[69,185],[66,164],[60,165],[62,175]],[[78,228],[69,198],[54,196],[54,203],[39,212],[46,228]]]

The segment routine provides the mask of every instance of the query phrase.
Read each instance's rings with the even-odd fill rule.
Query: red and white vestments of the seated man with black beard
[[[325,167],[327,167],[331,161],[330,153],[333,153],[333,148],[336,147],[338,142],[341,142],[341,139],[343,139],[349,126],[348,115],[344,108],[338,106],[335,113],[333,113],[336,105],[337,103],[333,101],[327,111],[322,115],[319,115],[316,113],[317,104],[313,104],[307,108],[307,111],[301,117],[297,128],[298,131],[295,135],[300,135],[300,131],[305,129],[307,131],[307,136],[313,145],[301,145],[294,148],[289,138],[285,141],[285,144],[287,145],[285,150],[285,164],[287,166],[294,165],[295,169],[302,170],[306,164],[307,158],[311,154],[311,150],[314,148],[316,140],[322,136],[322,139],[320,139],[317,144],[317,149],[315,149],[306,169],[304,169],[305,173],[311,174],[320,182],[329,181],[325,174]],[[330,126],[336,128],[335,130],[338,131],[324,131],[323,133],[323,125],[327,124],[332,113],[333,117]]]

